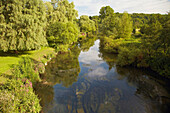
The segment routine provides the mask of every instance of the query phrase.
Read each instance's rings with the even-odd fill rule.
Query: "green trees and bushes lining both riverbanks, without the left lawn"
[[[170,13],[118,13],[110,6],[99,16],[82,15],[68,0],[1,0],[0,50],[36,50],[51,46],[68,51],[81,36],[98,34],[105,51],[119,53],[121,66],[151,67],[169,75]]]

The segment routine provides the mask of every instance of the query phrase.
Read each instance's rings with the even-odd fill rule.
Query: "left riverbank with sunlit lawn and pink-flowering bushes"
[[[35,83],[56,56],[53,48],[0,54],[0,112],[39,112]],[[9,107],[10,106],[10,107]]]

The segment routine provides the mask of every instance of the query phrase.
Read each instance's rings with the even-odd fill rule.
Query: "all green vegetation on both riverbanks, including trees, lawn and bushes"
[[[169,79],[169,13],[114,13],[106,6],[99,16],[77,19],[68,0],[1,0],[0,6],[0,112],[40,112],[33,89],[45,63],[77,43],[88,50],[84,44],[95,35],[104,51],[118,54],[117,65],[151,68]]]

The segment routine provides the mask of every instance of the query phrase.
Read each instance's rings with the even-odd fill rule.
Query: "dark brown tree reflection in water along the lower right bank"
[[[118,79],[127,79],[130,86],[137,86],[135,95],[144,101],[147,113],[168,113],[170,95],[168,91],[147,72],[132,67],[118,67]],[[163,81],[160,81],[163,82]]]

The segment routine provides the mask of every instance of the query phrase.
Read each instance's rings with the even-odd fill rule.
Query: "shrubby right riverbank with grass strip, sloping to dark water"
[[[162,49],[146,46],[141,34],[131,38],[101,37],[101,46],[107,53],[117,54],[117,65],[151,69],[160,76],[170,78],[169,56]]]

